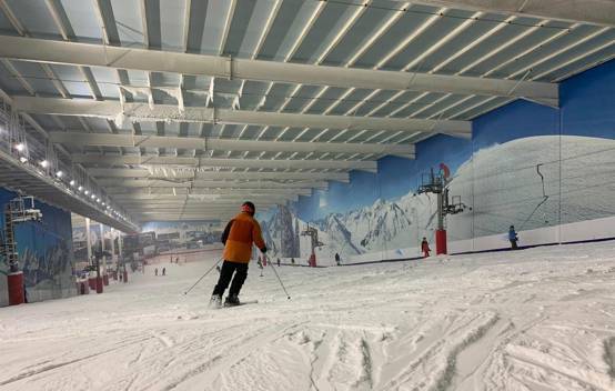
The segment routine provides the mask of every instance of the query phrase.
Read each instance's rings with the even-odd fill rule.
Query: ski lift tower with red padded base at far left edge
[[[19,254],[14,228],[17,224],[28,221],[41,221],[42,213],[34,208],[32,197],[18,197],[4,205],[4,240],[1,243],[1,253],[9,264],[7,282],[9,285],[9,305],[22,304],[26,301],[23,294],[23,272],[19,270]]]

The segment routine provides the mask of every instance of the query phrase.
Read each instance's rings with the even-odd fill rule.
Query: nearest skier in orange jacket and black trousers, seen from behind
[[[210,305],[221,307],[222,295],[231,283],[225,303],[239,305],[239,292],[248,277],[248,263],[252,255],[252,243],[256,244],[263,254],[266,253],[266,245],[261,233],[261,225],[254,219],[256,208],[250,201],[241,205],[241,213],[235,215],[222,233],[224,244],[222,269],[218,284],[213,289]],[[233,277],[234,273],[234,277]]]

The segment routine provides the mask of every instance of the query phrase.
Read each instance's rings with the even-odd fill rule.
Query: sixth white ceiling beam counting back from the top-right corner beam
[[[149,179],[202,179],[202,180],[329,180],[339,182],[349,182],[347,172],[232,172],[232,171],[205,171],[194,172],[191,170],[147,170],[147,169],[89,169],[88,172],[97,178],[149,178]]]

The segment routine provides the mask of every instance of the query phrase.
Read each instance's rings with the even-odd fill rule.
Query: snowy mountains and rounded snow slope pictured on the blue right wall
[[[481,149],[462,162],[452,176],[450,191],[468,208],[447,218],[450,240],[500,234],[517,230],[598,219],[615,214],[604,194],[605,183],[615,192],[609,169],[615,166],[615,140],[576,136],[536,136]],[[561,158],[559,158],[561,157]],[[544,184],[544,187],[543,187]],[[410,189],[396,199],[377,199],[370,205],[304,221],[293,207],[278,207],[262,222],[274,257],[310,254],[310,239],[301,235],[308,223],[319,230],[324,247],[319,262],[433,242],[435,196]],[[562,211],[562,213],[559,213]],[[299,245],[298,245],[299,244]],[[382,257],[380,257],[382,258]]]

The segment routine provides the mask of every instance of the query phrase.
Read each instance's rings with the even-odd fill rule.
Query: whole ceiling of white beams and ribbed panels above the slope
[[[579,6],[581,4],[581,6]],[[415,157],[615,54],[602,0],[0,0],[0,88],[138,222]],[[44,130],[33,129],[40,127]],[[403,173],[400,173],[403,180]]]

